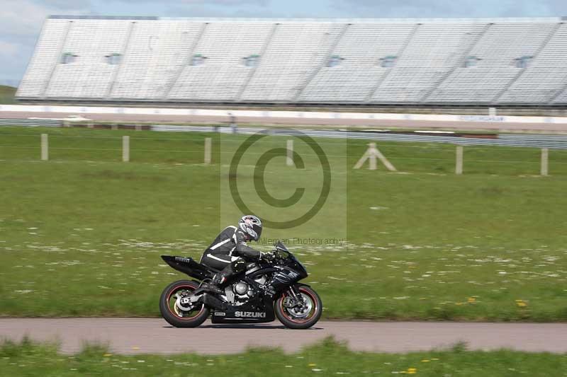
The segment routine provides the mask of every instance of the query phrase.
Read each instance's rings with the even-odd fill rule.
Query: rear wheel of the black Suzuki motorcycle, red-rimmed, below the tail
[[[164,320],[174,327],[198,327],[208,318],[210,313],[202,303],[191,310],[184,310],[178,305],[178,298],[187,296],[198,288],[196,282],[178,280],[165,287],[159,298],[159,311]]]

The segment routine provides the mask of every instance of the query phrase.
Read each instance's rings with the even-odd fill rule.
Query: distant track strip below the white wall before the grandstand
[[[65,118],[69,115],[82,115],[91,120],[108,122],[183,122],[183,123],[226,123],[228,116],[204,115],[163,115],[163,114],[78,114],[71,112],[2,112],[1,117],[12,119]],[[303,117],[238,117],[238,124],[293,124],[296,126],[334,126],[334,127],[396,127],[412,129],[461,129],[502,132],[567,132],[567,124],[560,123],[514,123],[514,122],[453,122],[431,120],[371,120],[371,119],[319,119]]]

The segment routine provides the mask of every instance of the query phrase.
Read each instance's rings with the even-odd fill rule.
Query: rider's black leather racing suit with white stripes
[[[201,263],[214,269],[228,280],[246,269],[246,262],[259,260],[262,252],[246,244],[245,233],[236,226],[227,226],[205,250]]]

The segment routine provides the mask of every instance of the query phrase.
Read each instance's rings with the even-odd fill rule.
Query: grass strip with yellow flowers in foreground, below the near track
[[[567,376],[567,355],[524,353],[506,349],[450,349],[408,354],[352,352],[332,339],[285,354],[280,349],[249,349],[242,354],[158,356],[111,354],[106,347],[86,345],[72,356],[55,344],[4,342],[0,376],[350,376],[415,374],[416,376]]]

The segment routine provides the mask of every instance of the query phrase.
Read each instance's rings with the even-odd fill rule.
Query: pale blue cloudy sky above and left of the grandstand
[[[567,16],[567,0],[0,0],[0,84],[17,86],[50,14],[405,18]]]

